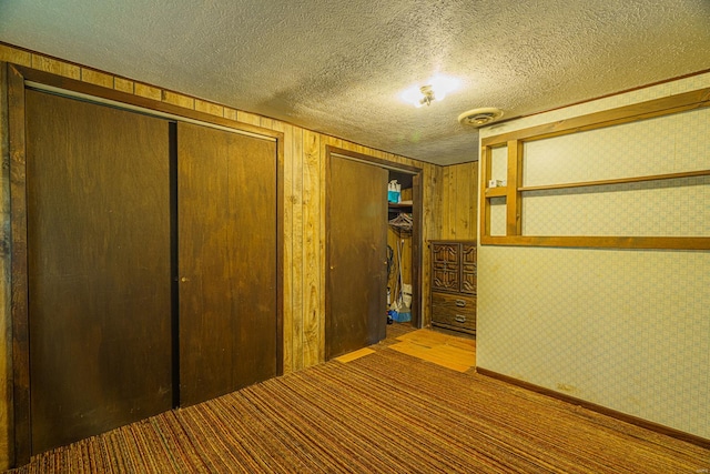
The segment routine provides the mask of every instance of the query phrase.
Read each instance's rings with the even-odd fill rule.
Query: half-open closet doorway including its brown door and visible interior
[[[404,183],[405,188],[399,189],[404,198],[389,203],[388,182],[392,180]],[[398,309],[405,310],[405,294],[400,293],[403,283],[407,285],[406,324],[420,327],[420,181],[418,168],[335,147],[326,148],[326,360],[383,340],[393,292],[397,296],[402,294],[397,300],[402,303]],[[398,232],[389,236],[390,220],[397,216],[408,219],[409,229],[406,235]],[[399,242],[397,258],[395,241],[402,238],[405,242]],[[390,301],[387,303],[387,288],[390,278],[394,279],[395,265],[402,268],[402,278],[397,276],[399,283],[389,289]],[[396,271],[399,274],[399,270]]]

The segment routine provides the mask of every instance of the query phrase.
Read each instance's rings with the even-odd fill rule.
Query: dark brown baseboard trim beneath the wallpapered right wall
[[[539,385],[535,385],[532,383],[529,382],[525,382],[518,379],[514,379],[511,376],[508,375],[504,375],[504,374],[499,374],[497,372],[494,371],[489,371],[487,369],[481,369],[481,367],[476,367],[476,373],[490,377],[490,379],[496,379],[499,380],[501,382],[506,382],[509,383],[511,385],[517,385],[521,389],[526,389],[529,390],[530,392],[536,392],[539,393],[541,395],[546,395],[546,396],[550,396],[552,399],[557,399],[557,400],[561,400],[562,402],[567,402],[570,403],[572,405],[578,405],[581,406],[584,409],[590,410],[592,412],[597,412],[600,413],[602,415],[607,415],[610,416],[612,418],[636,425],[636,426],[640,426],[642,428],[649,430],[649,431],[653,431],[656,433],[660,433],[660,434],[665,434],[667,436],[671,436],[674,437],[677,440],[681,440],[681,441],[686,441],[688,443],[692,443],[694,445],[698,445],[700,447],[704,447],[706,450],[710,450],[710,440],[706,440],[704,437],[700,437],[697,436],[694,434],[690,434],[690,433],[686,433],[682,432],[680,430],[676,430],[669,426],[665,426],[658,423],[653,423],[650,422],[648,420],[643,420],[643,418],[639,418],[638,416],[633,416],[633,415],[629,415],[627,413],[622,413],[622,412],[618,412],[616,410],[611,410],[608,409],[606,406],[602,405],[598,405],[596,403],[591,403],[591,402],[587,402],[586,400],[581,400],[581,399],[576,399],[574,396],[569,396],[566,395],[564,393],[559,393],[556,392],[554,390],[550,389],[546,389],[544,386],[539,386]]]

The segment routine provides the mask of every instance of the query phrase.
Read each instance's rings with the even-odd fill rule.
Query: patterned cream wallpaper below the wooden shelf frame
[[[478,366],[710,437],[710,253],[484,246]]]

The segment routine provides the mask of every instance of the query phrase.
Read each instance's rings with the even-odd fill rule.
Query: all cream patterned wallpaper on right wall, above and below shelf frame
[[[480,135],[704,87],[710,74]],[[531,142],[525,182],[710,168],[708,111],[672,118]],[[528,193],[524,232],[710,235],[708,178],[605,188]],[[710,438],[710,252],[484,245],[478,272],[478,366]]]

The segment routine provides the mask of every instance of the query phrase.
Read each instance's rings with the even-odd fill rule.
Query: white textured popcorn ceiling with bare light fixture
[[[0,41],[438,164],[459,113],[530,114],[710,68],[710,0],[0,0]],[[399,93],[462,81],[416,109]]]

